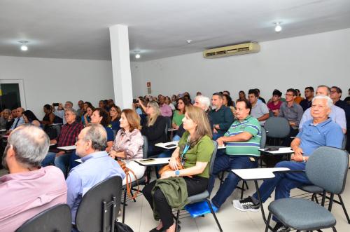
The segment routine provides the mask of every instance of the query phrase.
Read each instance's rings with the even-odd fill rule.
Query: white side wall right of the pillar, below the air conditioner
[[[283,32],[282,32],[283,33]],[[197,91],[210,96],[229,90],[238,97],[239,90],[260,88],[269,98],[278,88],[325,84],[339,86],[343,98],[350,87],[350,29],[311,34],[260,43],[260,53],[204,59],[202,53],[167,57],[148,62],[133,62],[134,96],[146,95],[151,81],[152,95]],[[137,68],[136,68],[137,67]]]

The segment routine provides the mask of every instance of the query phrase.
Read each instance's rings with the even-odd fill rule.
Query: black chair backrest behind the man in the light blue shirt
[[[118,176],[105,179],[93,186],[80,202],[76,212],[76,227],[78,231],[98,232],[104,231],[103,225],[106,226],[106,231],[111,230],[111,223],[116,220],[120,210],[120,198],[122,196],[122,179]],[[104,210],[103,203],[110,203],[116,199],[115,207],[112,210],[108,209],[108,222],[103,220]],[[114,217],[114,218],[113,218]]]

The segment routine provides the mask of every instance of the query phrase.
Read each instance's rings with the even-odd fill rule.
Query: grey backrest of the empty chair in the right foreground
[[[307,178],[329,193],[344,191],[349,168],[349,153],[330,146],[321,146],[309,157]]]

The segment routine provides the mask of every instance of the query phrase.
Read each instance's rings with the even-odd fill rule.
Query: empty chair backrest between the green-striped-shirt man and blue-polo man
[[[289,135],[290,125],[286,118],[271,117],[264,124],[267,130],[267,137],[283,139]]]

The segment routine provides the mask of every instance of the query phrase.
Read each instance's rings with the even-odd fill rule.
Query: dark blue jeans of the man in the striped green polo
[[[257,168],[258,161],[251,161],[248,156],[229,156],[227,154],[223,154],[222,156],[218,156],[215,158],[214,170],[213,174],[209,177],[209,193],[213,190],[214,182],[218,173],[231,169],[243,169],[243,168]],[[220,189],[214,196],[211,198],[211,202],[216,207],[221,207],[225,200],[235,191],[236,186],[239,182],[240,178],[235,175],[233,172],[228,173],[228,177],[226,177],[223,184],[221,184]]]

